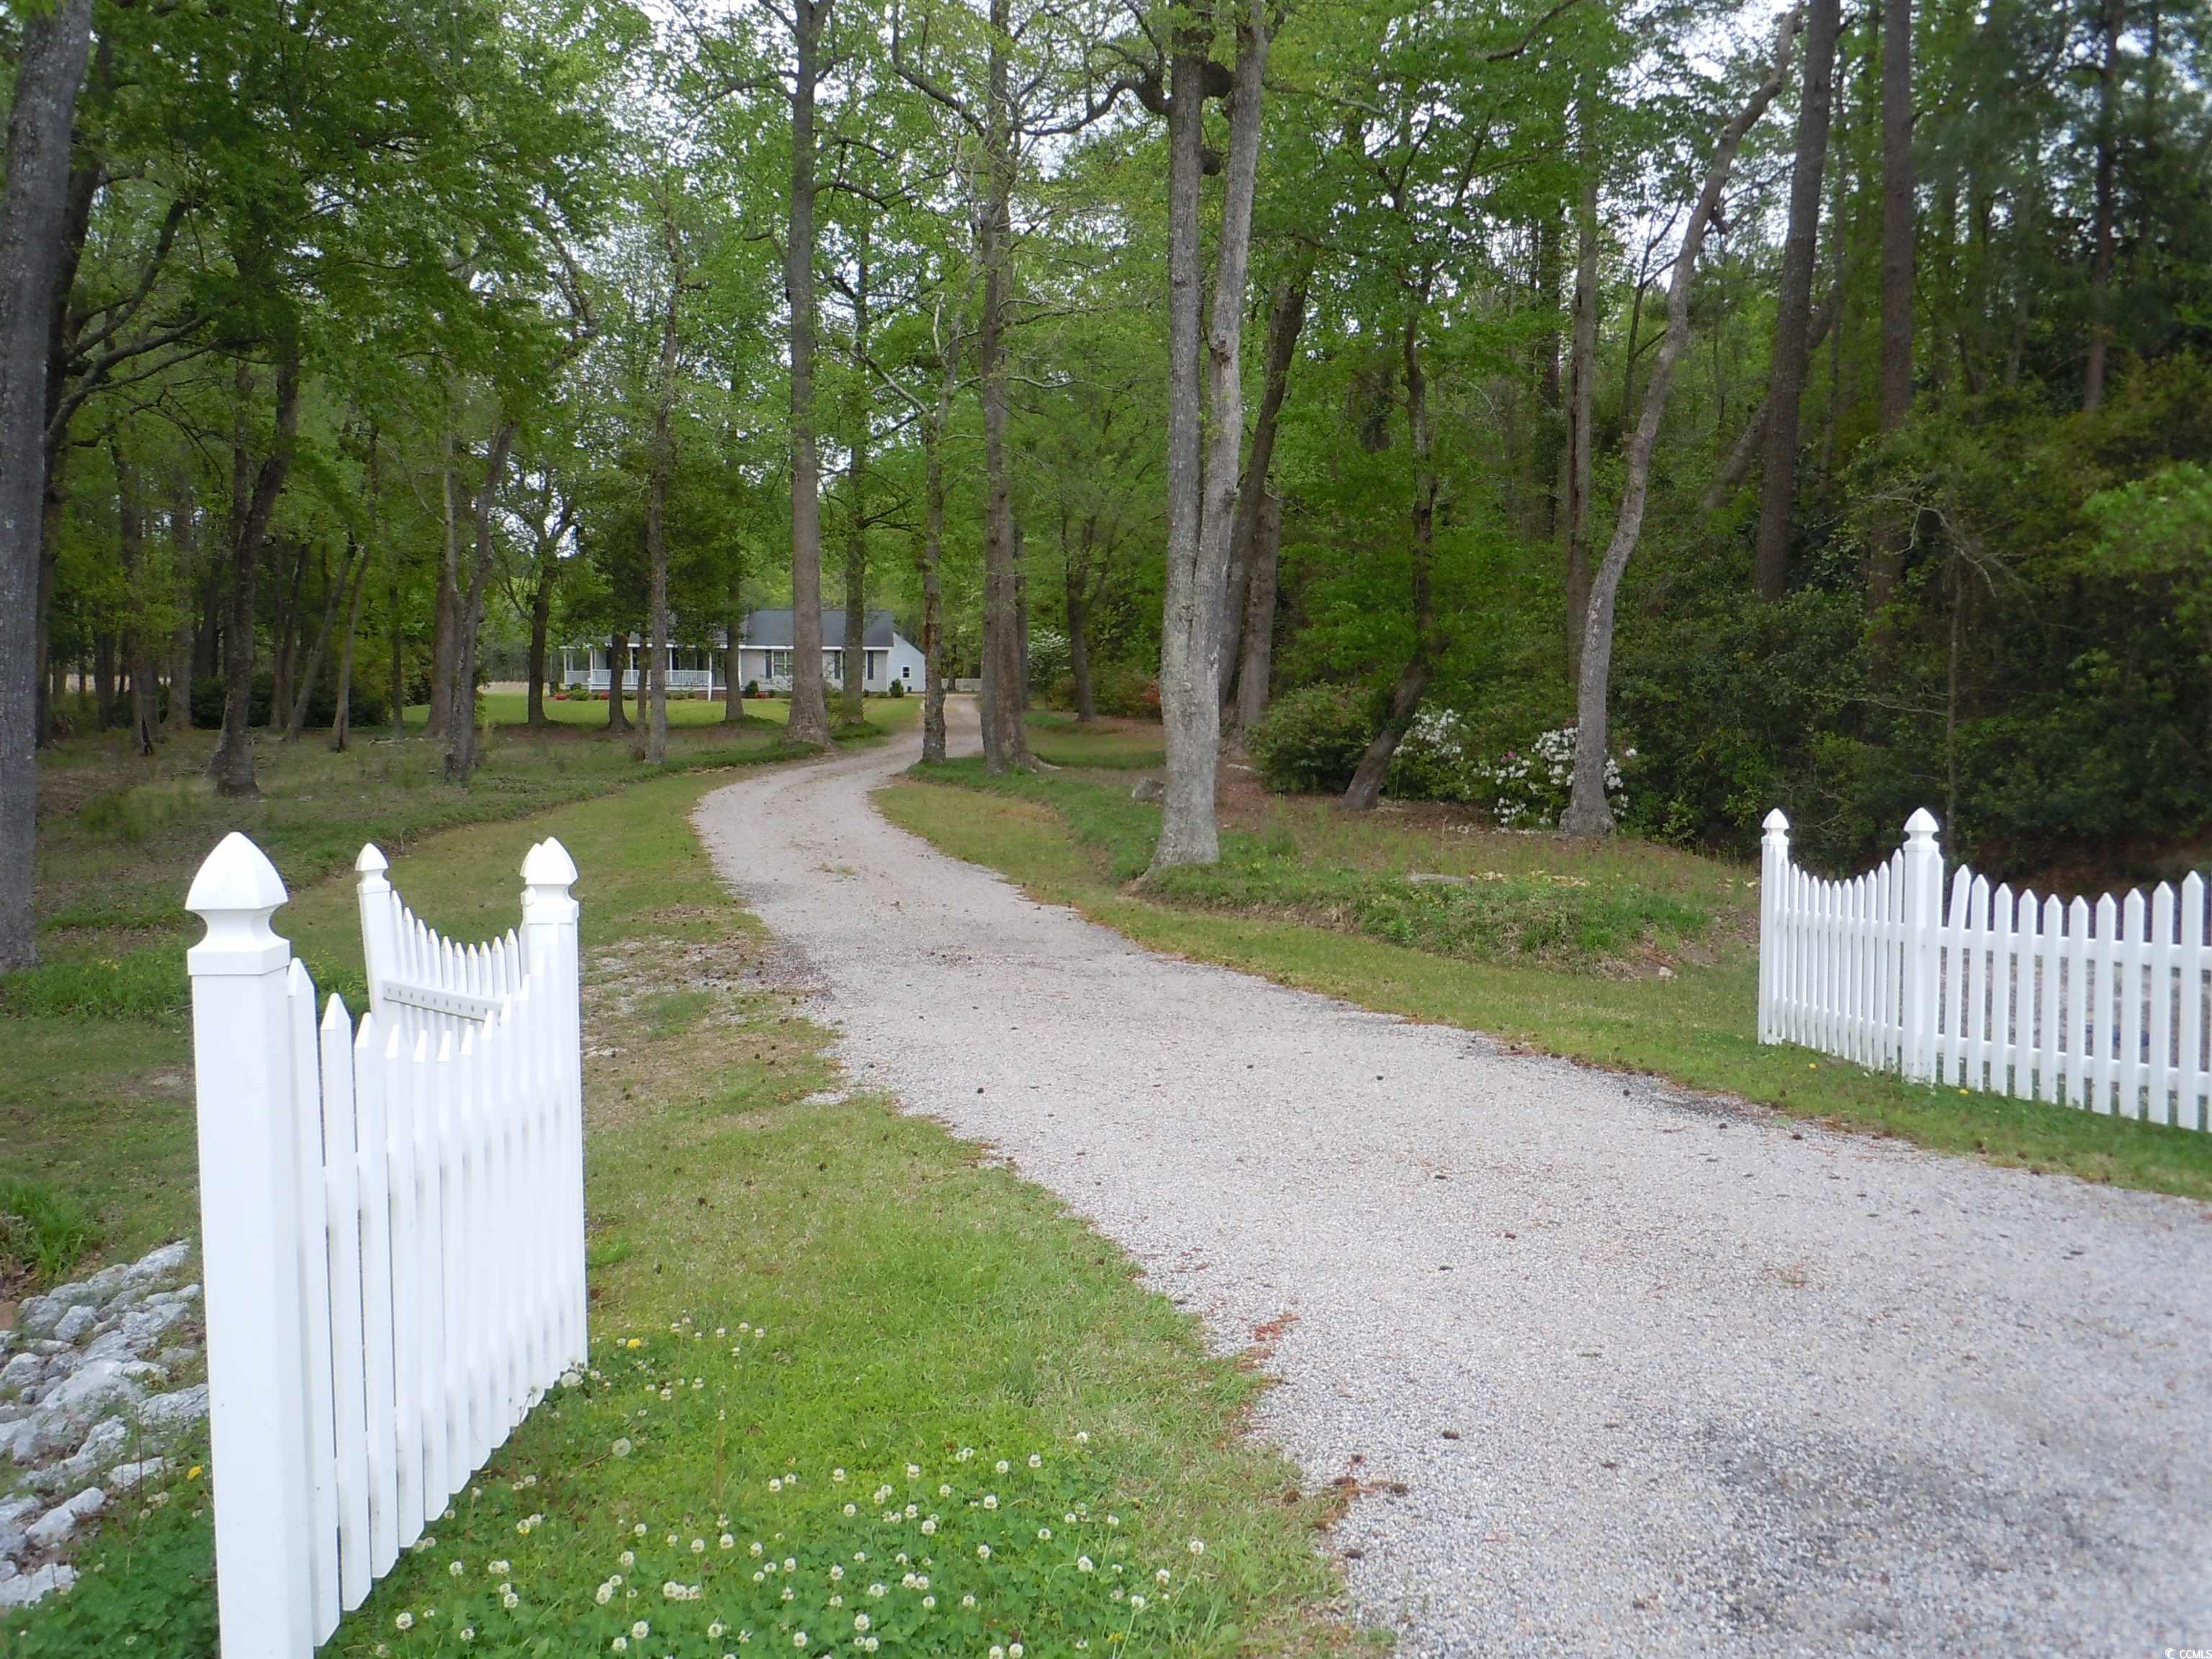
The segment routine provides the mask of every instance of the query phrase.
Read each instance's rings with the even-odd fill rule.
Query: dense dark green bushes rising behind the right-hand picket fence
[[[2095,414],[1922,409],[1781,604],[1741,566],[1655,566],[1617,677],[1630,821],[1750,852],[1781,805],[1807,858],[1849,869],[1931,807],[1953,854],[2015,880],[2161,872],[2212,823],[2208,403],[2212,365],[2177,361]],[[1869,615],[1863,562],[1900,524]]]

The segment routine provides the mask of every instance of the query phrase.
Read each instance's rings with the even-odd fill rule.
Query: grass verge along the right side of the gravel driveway
[[[1110,772],[989,779],[953,761],[916,768],[878,801],[945,852],[1161,951],[1796,1117],[2212,1199],[2212,1135],[1911,1086],[1761,1044],[1747,867],[1270,799],[1239,814],[1248,827],[1223,836],[1217,869],[1141,880],[1159,810]]]

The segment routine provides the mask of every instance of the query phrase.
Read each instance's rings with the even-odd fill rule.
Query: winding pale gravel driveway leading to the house
[[[953,706],[973,748],[973,712]],[[2212,1648],[2212,1212],[1150,956],[889,827],[916,737],[708,796],[854,1077],[1201,1312],[1405,1655]]]

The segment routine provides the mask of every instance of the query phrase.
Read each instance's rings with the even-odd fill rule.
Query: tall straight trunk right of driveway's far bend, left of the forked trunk
[[[1011,7],[991,0],[991,60],[984,100],[984,204],[978,223],[982,319],[975,376],[982,396],[982,754],[989,772],[1029,765],[1022,728],[1020,593],[1015,591],[1013,495],[1006,478],[1006,288],[1013,274],[1013,93]]]

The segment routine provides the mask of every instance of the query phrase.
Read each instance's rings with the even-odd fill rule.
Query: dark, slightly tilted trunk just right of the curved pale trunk
[[[1774,303],[1774,367],[1767,374],[1767,462],[1759,482],[1759,544],[1752,586],[1761,599],[1783,597],[1790,582],[1790,524],[1796,504],[1798,400],[1812,356],[1814,243],[1820,232],[1820,173],[1827,166],[1827,122],[1836,91],[1840,0],[1809,0],[1805,15],[1805,91],[1798,102],[1796,161],[1790,168],[1790,239]],[[1832,226],[1829,234],[1840,234]]]

